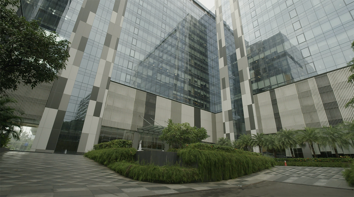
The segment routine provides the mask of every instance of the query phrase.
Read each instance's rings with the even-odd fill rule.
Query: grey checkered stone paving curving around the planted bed
[[[83,156],[10,151],[0,153],[0,197],[135,197],[241,187],[264,180],[354,189],[342,170],[276,166],[233,180],[156,184],[125,178]]]

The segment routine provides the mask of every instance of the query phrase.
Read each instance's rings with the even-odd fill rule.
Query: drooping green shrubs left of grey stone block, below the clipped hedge
[[[100,164],[108,165],[119,161],[134,161],[135,153],[135,148],[107,148],[89,151],[84,156]]]

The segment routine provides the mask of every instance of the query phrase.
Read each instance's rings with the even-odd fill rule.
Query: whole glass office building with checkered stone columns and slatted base
[[[26,19],[72,43],[51,90],[36,90],[45,98],[28,99],[46,102],[24,117],[39,122],[31,151],[83,153],[168,118],[207,127],[213,143],[354,118],[344,109],[353,0],[215,0],[212,11],[196,0],[22,4]]]

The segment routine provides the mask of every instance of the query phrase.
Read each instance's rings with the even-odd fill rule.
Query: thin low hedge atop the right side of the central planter
[[[219,145],[207,144],[207,143],[188,144],[185,146],[185,148],[196,148],[196,149],[205,150],[205,151],[223,151],[223,152],[227,152],[227,153],[249,154],[249,155],[258,156],[258,157],[262,156],[261,153],[243,151],[243,150],[236,149],[236,148],[229,147],[229,146],[219,146]],[[175,151],[172,151],[172,152],[175,152]]]

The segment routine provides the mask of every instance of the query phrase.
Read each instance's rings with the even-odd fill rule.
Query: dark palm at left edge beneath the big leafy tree
[[[7,146],[8,139],[19,140],[21,133],[22,118],[15,115],[19,112],[11,104],[16,103],[16,100],[9,97],[0,97],[0,147]],[[20,112],[19,112],[20,113]],[[20,128],[20,131],[17,131]]]

